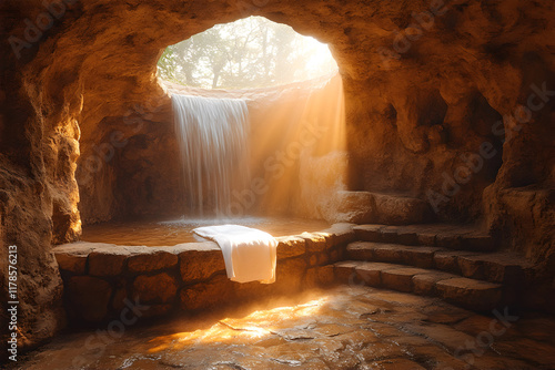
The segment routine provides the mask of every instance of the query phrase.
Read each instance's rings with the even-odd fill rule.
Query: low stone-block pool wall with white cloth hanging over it
[[[75,321],[117,317],[127,301],[150,309],[148,317],[178,309],[205,310],[266,294],[290,294],[334,281],[329,266],[355,234],[353,225],[276,238],[276,281],[238,284],[225,276],[223,255],[213,241],[169,247],[72,243],[53,248],[64,280],[68,311]]]

